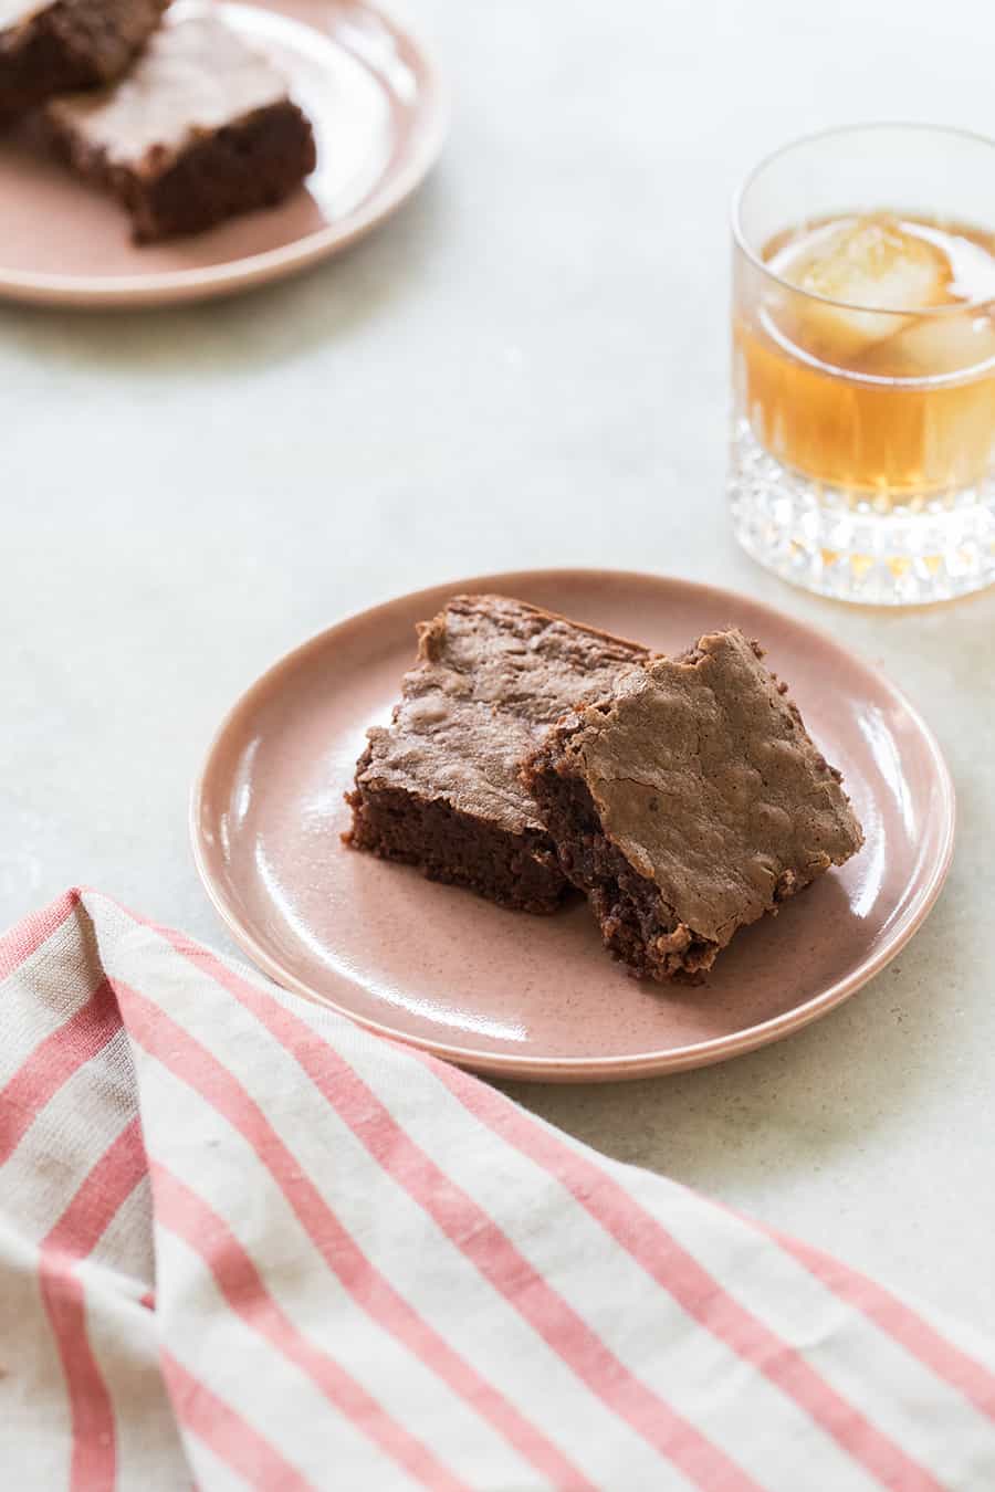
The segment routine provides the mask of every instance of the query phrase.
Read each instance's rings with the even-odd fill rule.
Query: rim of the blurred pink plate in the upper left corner
[[[360,0],[418,58],[422,88],[415,109],[415,145],[398,169],[388,167],[370,195],[339,222],[330,222],[292,243],[207,269],[164,270],[157,275],[34,275],[0,269],[0,298],[25,304],[81,310],[131,310],[215,300],[295,275],[349,248],[383,222],[422,184],[439,158],[451,124],[451,94],[439,64],[407,24],[401,25],[380,0]]]

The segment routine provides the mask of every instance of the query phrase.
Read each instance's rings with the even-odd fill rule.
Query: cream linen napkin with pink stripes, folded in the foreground
[[[10,1492],[995,1488],[995,1350],[97,892],[0,941]]]

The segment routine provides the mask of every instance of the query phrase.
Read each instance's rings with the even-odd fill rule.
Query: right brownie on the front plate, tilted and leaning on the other
[[[637,976],[695,976],[864,836],[785,685],[741,633],[630,670],[524,768],[564,873]]]

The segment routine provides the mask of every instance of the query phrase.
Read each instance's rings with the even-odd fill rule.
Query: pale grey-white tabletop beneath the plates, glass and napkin
[[[870,13],[868,13],[870,12]],[[186,794],[285,649],[474,571],[601,564],[831,628],[947,752],[944,897],[871,986],[682,1077],[510,1086],[592,1144],[974,1320],[995,1313],[995,592],[846,610],[728,536],[726,198],[806,128],[994,128],[976,0],[421,0],[451,146],[309,278],[145,315],[0,310],[0,924],[98,885],[225,946]]]

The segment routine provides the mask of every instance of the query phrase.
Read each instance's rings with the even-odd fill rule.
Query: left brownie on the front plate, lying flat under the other
[[[570,892],[521,767],[549,724],[650,655],[501,595],[456,595],[418,627],[418,658],[360,758],[357,849],[418,865],[506,907]]]

